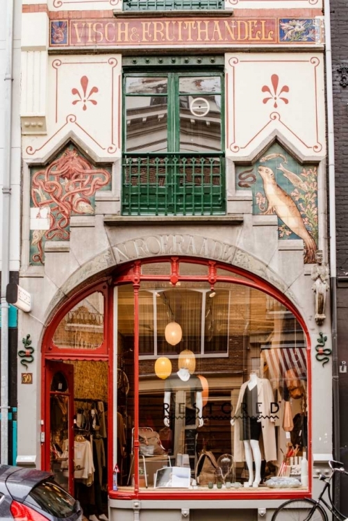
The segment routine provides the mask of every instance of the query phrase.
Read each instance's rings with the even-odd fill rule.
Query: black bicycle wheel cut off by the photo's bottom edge
[[[313,499],[290,499],[276,509],[272,521],[327,521],[327,516]]]

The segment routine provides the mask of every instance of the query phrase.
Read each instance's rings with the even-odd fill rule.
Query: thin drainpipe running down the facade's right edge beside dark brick
[[[333,454],[340,461],[340,409],[338,386],[338,348],[337,348],[337,293],[336,293],[336,223],[335,223],[335,142],[333,136],[333,83],[331,56],[330,0],[324,0],[325,21],[325,59],[326,59],[326,106],[329,163],[329,248],[331,274],[331,327],[332,327],[332,388],[333,388]],[[340,486],[336,483],[335,506],[340,504]]]

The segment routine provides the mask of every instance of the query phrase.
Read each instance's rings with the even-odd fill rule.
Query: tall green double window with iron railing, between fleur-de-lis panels
[[[223,104],[219,67],[124,74],[124,215],[225,212]]]

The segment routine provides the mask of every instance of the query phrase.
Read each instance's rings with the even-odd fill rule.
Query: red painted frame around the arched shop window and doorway
[[[181,275],[179,273],[179,264],[180,262],[184,263],[192,263],[196,265],[207,265],[208,266],[208,275],[207,276],[186,276]],[[144,264],[153,264],[153,263],[170,263],[171,264],[171,274],[170,275],[147,275],[141,273],[141,266]],[[217,275],[217,269],[226,270],[231,272],[231,276],[219,276]],[[233,276],[236,275],[236,276]],[[243,279],[238,278],[238,276],[242,276]],[[302,498],[308,497],[312,493],[312,433],[311,433],[311,364],[310,364],[310,334],[304,319],[301,317],[301,314],[295,307],[295,305],[283,295],[281,290],[275,288],[270,285],[263,279],[260,279],[258,276],[251,274],[245,270],[242,270],[240,267],[235,267],[233,265],[226,265],[224,263],[219,263],[217,261],[208,261],[204,259],[190,258],[190,257],[156,257],[156,258],[147,258],[142,261],[135,261],[133,263],[127,263],[122,267],[122,270],[118,270],[115,272],[112,279],[113,283],[110,284],[110,279],[103,279],[103,281],[99,281],[99,283],[94,283],[88,288],[84,290],[76,292],[76,294],[69,299],[63,306],[60,306],[56,315],[54,315],[51,323],[49,324],[47,331],[44,335],[43,340],[43,357],[42,357],[42,374],[44,374],[44,360],[45,359],[60,359],[60,360],[109,360],[109,422],[108,422],[108,483],[109,483],[109,497],[111,499],[160,499],[163,500],[165,498],[170,497],[170,499],[222,499],[221,495],[217,495],[214,491],[206,491],[200,492],[199,490],[178,490],[178,491],[168,491],[165,489],[162,490],[143,490],[139,488],[139,476],[138,472],[134,472],[135,484],[133,490],[119,489],[117,491],[111,489],[111,485],[113,483],[113,466],[115,464],[115,455],[113,454],[113,396],[114,396],[114,367],[113,363],[113,286],[119,286],[122,283],[132,283],[134,290],[134,458],[135,458],[135,469],[138,469],[139,466],[139,442],[138,440],[138,430],[139,430],[139,289],[140,283],[142,281],[169,281],[173,286],[180,281],[208,281],[210,286],[213,288],[214,284],[217,282],[227,282],[227,283],[235,283],[240,284],[242,286],[248,286],[249,288],[254,288],[256,290],[260,290],[265,292],[267,295],[274,297],[274,299],[278,300],[283,304],[292,314],[297,318],[299,324],[304,330],[304,334],[306,336],[306,353],[307,353],[307,381],[308,381],[308,490],[298,490],[298,489],[289,489],[289,490],[258,490],[258,489],[247,489],[238,492],[239,489],[235,491],[226,491],[224,490],[223,499],[233,499],[233,500],[246,500],[246,499],[292,499],[292,498]],[[71,308],[73,308],[78,301],[81,301],[83,298],[90,295],[95,291],[102,291],[105,298],[105,307],[104,307],[104,342],[96,349],[93,354],[86,354],[83,349],[60,349],[53,345],[53,335],[56,331],[56,327],[60,324],[60,320],[63,320],[63,317]],[[44,381],[44,379],[43,379]],[[42,386],[42,392],[44,392],[44,385]],[[44,404],[47,397],[42,396],[42,412],[44,413]],[[47,432],[47,439],[49,439]],[[43,447],[42,447],[43,448]],[[44,450],[42,450],[42,461],[44,463],[44,468],[48,468],[49,461],[46,461],[44,457]]]

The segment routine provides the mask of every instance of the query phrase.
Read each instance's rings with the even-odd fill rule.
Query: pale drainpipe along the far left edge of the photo
[[[14,0],[7,0],[5,88],[3,96],[3,188],[1,245],[1,464],[8,463],[8,303],[6,286],[10,281],[10,195],[11,195],[11,133],[13,82],[13,10]]]

